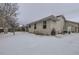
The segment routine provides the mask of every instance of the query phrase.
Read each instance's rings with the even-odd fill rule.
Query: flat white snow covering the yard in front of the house
[[[79,33],[42,36],[27,32],[0,33],[1,55],[78,55]]]

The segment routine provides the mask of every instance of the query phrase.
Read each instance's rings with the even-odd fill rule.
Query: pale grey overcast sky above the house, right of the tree
[[[64,15],[67,20],[79,22],[79,4],[77,3],[22,3],[18,6],[20,24],[28,24],[49,15]]]

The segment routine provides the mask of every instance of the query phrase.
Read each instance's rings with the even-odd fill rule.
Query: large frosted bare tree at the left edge
[[[8,26],[11,26],[12,29],[15,28],[17,10],[18,6],[16,3],[0,4],[0,19],[3,20],[4,33],[7,32],[5,30],[8,28]],[[13,32],[15,32],[15,30],[13,30]]]

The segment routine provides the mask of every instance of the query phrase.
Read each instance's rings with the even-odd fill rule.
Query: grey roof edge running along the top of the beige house
[[[31,23],[29,23],[29,24],[34,24],[34,23],[38,23],[38,22],[41,22],[41,21],[47,21],[47,20],[58,21],[59,19],[57,19],[57,17],[62,17],[66,22],[72,22],[72,23],[79,24],[78,22],[66,20],[66,18],[64,17],[64,15],[58,15],[58,16],[50,15],[50,16],[48,16],[48,17],[44,17],[44,18],[42,18],[42,19],[40,19],[40,20],[31,22]],[[29,24],[27,24],[27,25],[29,25]]]

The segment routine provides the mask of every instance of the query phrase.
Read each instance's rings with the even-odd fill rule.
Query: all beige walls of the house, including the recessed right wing
[[[78,24],[72,23],[72,22],[65,23],[64,19],[60,19],[57,22],[48,20],[46,29],[43,29],[43,21],[36,23],[36,29],[34,29],[34,24],[31,24],[31,28],[28,28],[28,29],[29,29],[29,32],[31,33],[50,35],[53,29],[55,29],[56,34],[58,34],[58,33],[62,33],[64,31],[64,28],[65,28],[65,31],[71,31],[71,32],[79,31]]]

